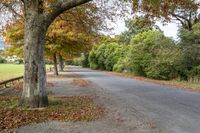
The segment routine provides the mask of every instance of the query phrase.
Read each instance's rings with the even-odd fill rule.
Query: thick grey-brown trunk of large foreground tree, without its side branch
[[[24,84],[20,105],[48,106],[44,43],[47,26],[44,25],[36,5],[27,5],[24,36]]]

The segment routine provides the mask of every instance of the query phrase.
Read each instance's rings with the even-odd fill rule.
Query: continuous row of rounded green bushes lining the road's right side
[[[180,45],[160,31],[146,31],[131,39],[130,45],[106,42],[92,49],[89,66],[116,72],[131,72],[154,79],[188,78]],[[190,75],[197,73],[195,68]]]

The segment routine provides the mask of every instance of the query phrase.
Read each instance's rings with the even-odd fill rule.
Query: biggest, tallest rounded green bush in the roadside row
[[[147,31],[136,35],[131,44],[127,58],[135,74],[154,79],[177,77],[181,52],[172,39],[159,31]]]

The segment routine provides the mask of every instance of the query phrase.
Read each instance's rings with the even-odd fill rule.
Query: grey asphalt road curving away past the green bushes
[[[71,67],[70,71],[128,103],[127,108],[153,119],[164,133],[200,133],[198,93],[80,67]]]

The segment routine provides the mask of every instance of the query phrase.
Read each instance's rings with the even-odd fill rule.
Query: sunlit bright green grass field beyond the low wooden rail
[[[46,66],[47,68],[50,65]],[[6,80],[18,76],[22,76],[24,73],[24,65],[23,64],[0,64],[0,81]]]

